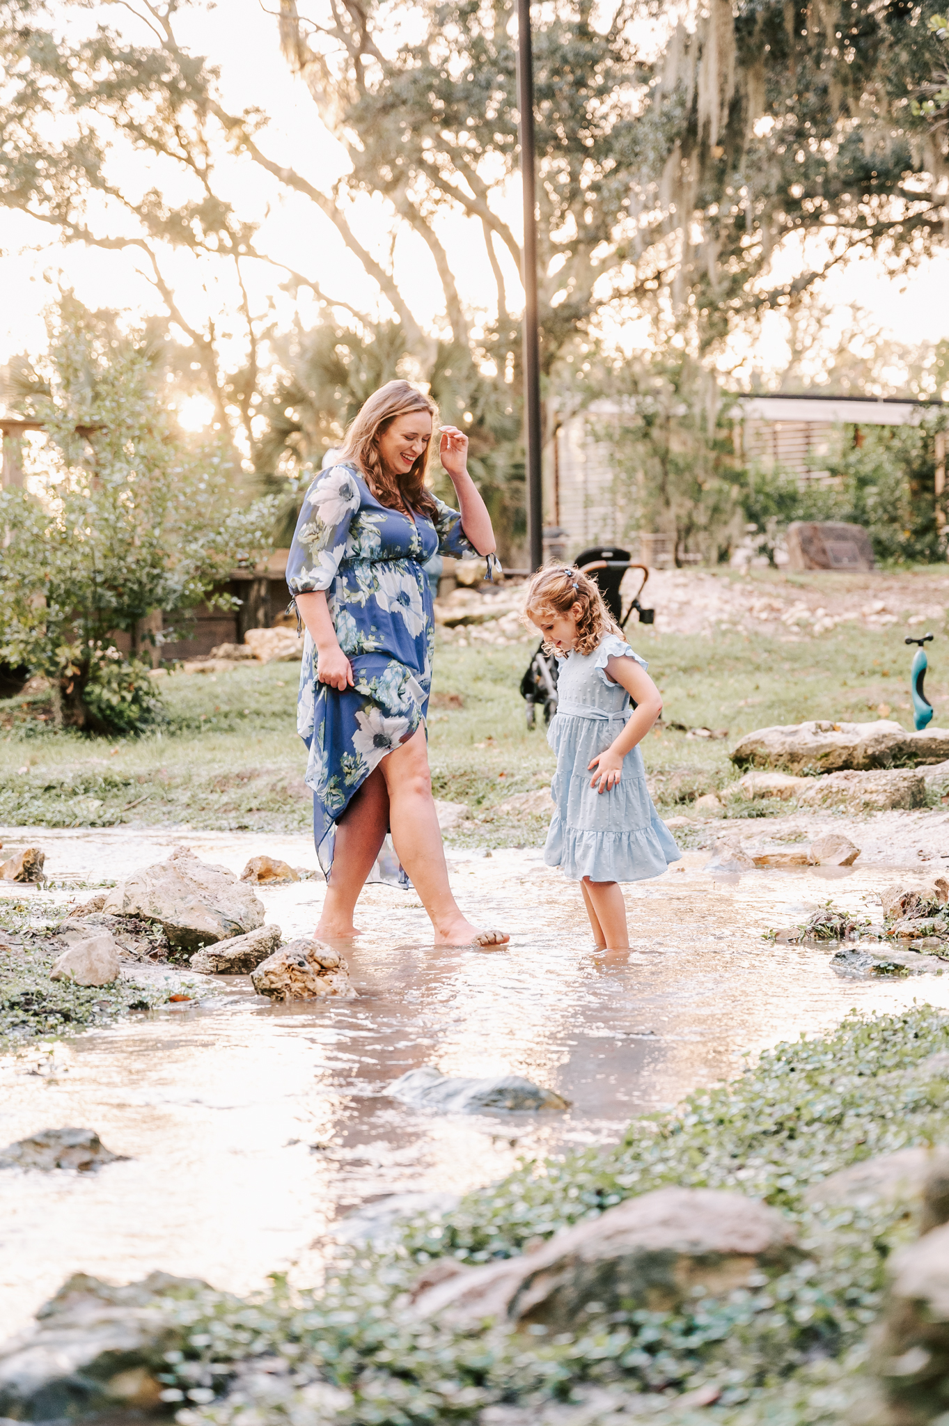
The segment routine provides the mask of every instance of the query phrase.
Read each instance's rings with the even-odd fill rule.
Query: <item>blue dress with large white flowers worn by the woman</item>
[[[353,466],[321,471],[304,499],[286,563],[291,595],[326,590],[339,647],[355,687],[319,683],[309,633],[296,704],[296,730],[309,749],[313,840],[329,880],[335,826],[386,753],[425,717],[432,687],[435,622],[425,569],[433,555],[474,555],[462,516],[440,501],[435,522],[415,522],[370,493]],[[389,854],[379,874],[408,886]]]

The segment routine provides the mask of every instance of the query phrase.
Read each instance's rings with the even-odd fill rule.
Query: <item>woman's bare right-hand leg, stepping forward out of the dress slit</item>
[[[379,767],[389,789],[392,841],[429,913],[435,944],[466,945],[479,935],[479,930],[462,915],[449,886],[445,846],[432,799],[425,729],[420,727],[408,743],[388,753]],[[499,935],[509,940],[504,933]]]

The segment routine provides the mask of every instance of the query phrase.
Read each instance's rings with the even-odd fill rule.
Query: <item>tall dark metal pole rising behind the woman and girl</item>
[[[520,177],[524,191],[524,453],[527,552],[531,569],[544,558],[544,492],[540,469],[540,339],[537,334],[537,211],[534,190],[534,66],[530,53],[530,0],[517,0],[517,108]]]

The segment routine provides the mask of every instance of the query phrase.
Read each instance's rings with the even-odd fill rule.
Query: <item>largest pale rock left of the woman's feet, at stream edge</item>
[[[265,914],[247,883],[227,867],[199,861],[188,847],[120,881],[103,911],[157,921],[170,944],[185,951],[255,931]]]

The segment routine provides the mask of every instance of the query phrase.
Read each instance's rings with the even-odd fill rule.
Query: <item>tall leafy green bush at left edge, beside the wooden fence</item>
[[[58,722],[125,733],[155,709],[144,620],[232,603],[215,586],[269,548],[274,501],[241,508],[231,456],[185,445],[150,349],[108,315],[67,298],[50,338],[7,392],[50,445],[41,473],[0,493],[0,663],[50,680]]]

